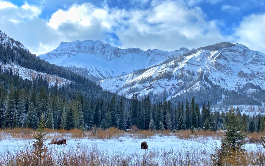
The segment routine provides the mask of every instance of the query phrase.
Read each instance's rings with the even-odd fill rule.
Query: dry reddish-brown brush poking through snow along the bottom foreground
[[[107,150],[92,146],[52,146],[48,147],[41,161],[36,161],[30,145],[20,147],[14,152],[6,150],[0,154],[0,165],[118,165],[118,166],[204,166],[212,165],[210,154],[206,144],[202,146],[183,144],[177,150],[150,149],[141,150],[133,154],[123,151]],[[238,156],[237,163],[235,159],[226,158],[226,163],[231,165],[265,165],[265,151],[263,148],[248,150],[243,155]]]

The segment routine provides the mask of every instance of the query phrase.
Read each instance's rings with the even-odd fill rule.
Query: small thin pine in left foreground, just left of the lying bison
[[[33,141],[33,154],[35,155],[35,158],[37,160],[36,165],[43,165],[44,163],[44,158],[45,156],[43,156],[45,153],[45,136],[47,133],[44,133],[44,127],[45,127],[45,117],[44,114],[42,113],[41,115],[41,120],[39,121],[38,124],[38,133],[36,136],[34,136],[34,138],[36,139],[36,141]]]

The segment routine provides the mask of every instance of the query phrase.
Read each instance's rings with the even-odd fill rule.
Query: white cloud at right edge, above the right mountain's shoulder
[[[250,49],[265,53],[265,13],[252,14],[243,19],[239,27],[235,28],[237,42],[248,46]]]

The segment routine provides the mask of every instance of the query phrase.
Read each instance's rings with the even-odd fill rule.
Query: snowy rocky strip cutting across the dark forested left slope
[[[48,84],[51,86],[54,86],[56,84],[57,81],[57,86],[58,87],[62,87],[63,85],[67,85],[70,84],[71,81],[65,79],[65,78],[61,78],[58,76],[54,76],[54,75],[50,75],[47,73],[42,73],[42,72],[37,72],[35,70],[31,70],[31,69],[27,69],[21,66],[18,66],[14,63],[12,64],[4,64],[4,63],[0,63],[0,68],[2,69],[2,71],[4,72],[6,71],[10,71],[10,69],[12,70],[12,73],[15,75],[18,75],[19,77],[28,80],[35,80],[37,78],[43,78],[46,79]]]

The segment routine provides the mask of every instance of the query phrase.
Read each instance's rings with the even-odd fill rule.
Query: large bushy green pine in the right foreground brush
[[[211,154],[211,159],[215,165],[229,165],[228,159],[239,163],[239,157],[245,151],[245,134],[238,132],[237,115],[234,110],[230,110],[227,114],[226,135],[221,140],[221,148],[215,149],[215,154]]]

